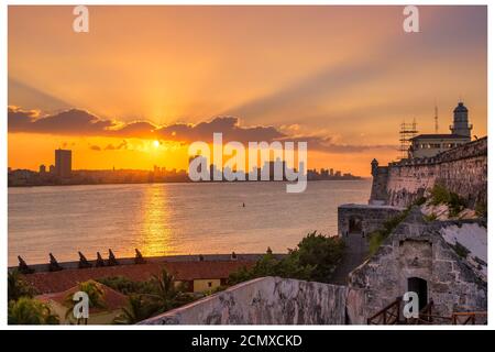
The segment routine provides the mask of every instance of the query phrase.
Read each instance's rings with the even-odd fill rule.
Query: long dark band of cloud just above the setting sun
[[[300,133],[299,125],[280,127],[271,125],[243,127],[235,117],[218,117],[210,121],[193,123],[174,123],[156,127],[146,121],[120,122],[101,119],[86,110],[69,109],[56,114],[40,117],[37,110],[22,110],[18,107],[8,108],[9,133],[46,133],[78,136],[111,136],[155,139],[191,143],[194,141],[212,142],[213,133],[222,133],[223,142],[273,142],[293,141],[308,142],[308,148],[326,153],[361,153],[372,148],[393,148],[391,145],[348,145],[339,144],[331,136],[296,134]],[[90,145],[92,151],[114,151],[127,148],[128,142],[108,144],[105,148]]]

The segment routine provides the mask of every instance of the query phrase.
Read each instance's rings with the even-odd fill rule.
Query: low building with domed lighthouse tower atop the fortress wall
[[[471,142],[471,130],[469,123],[468,108],[462,101],[453,110],[453,124],[450,134],[419,134],[409,141],[409,158],[432,157],[452,147]]]

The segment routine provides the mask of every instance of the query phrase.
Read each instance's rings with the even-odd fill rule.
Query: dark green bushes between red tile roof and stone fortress
[[[316,282],[329,282],[331,274],[341,261],[344,243],[338,237],[317,234],[306,235],[288,255],[277,258],[272,253],[265,254],[251,268],[241,268],[229,276],[229,284],[234,285],[263,276],[279,276]]]

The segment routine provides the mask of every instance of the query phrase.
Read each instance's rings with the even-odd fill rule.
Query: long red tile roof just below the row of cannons
[[[162,267],[165,267],[177,280],[193,280],[228,278],[230,273],[243,266],[251,267],[252,265],[254,265],[254,262],[251,261],[164,262],[74,268],[28,274],[24,277],[40,294],[53,294],[68,290],[88,279],[111,276],[125,276],[132,280],[143,282],[153,275],[158,275]]]

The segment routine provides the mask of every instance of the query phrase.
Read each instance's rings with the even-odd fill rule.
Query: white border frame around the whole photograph
[[[349,0],[343,3],[342,1],[332,1],[332,0],[323,0],[323,1],[273,1],[273,0],[252,0],[252,1],[237,1],[237,0],[183,0],[183,1],[168,1],[168,0],[145,0],[145,1],[132,1],[132,0],[118,0],[114,3],[109,3],[109,1],[101,0],[86,0],[86,1],[74,1],[74,0],[48,0],[48,1],[22,1],[22,0],[7,0],[6,3],[2,3],[0,10],[0,23],[3,23],[0,29],[0,37],[2,38],[2,43],[4,43],[2,51],[4,54],[0,55],[0,72],[3,82],[1,85],[1,106],[3,107],[4,113],[2,114],[4,118],[0,119],[0,135],[4,136],[4,140],[1,143],[1,153],[0,153],[0,165],[2,165],[3,170],[0,172],[0,184],[2,185],[2,189],[0,193],[0,237],[2,238],[3,245],[0,245],[0,328],[8,330],[491,330],[495,328],[495,318],[492,317],[491,307],[495,297],[495,275],[492,275],[492,271],[488,271],[488,324],[487,326],[9,326],[7,324],[7,267],[8,267],[8,193],[7,193],[7,165],[8,165],[8,139],[7,139],[7,95],[8,95],[8,6],[78,6],[78,4],[111,4],[111,6],[145,6],[145,4],[156,4],[156,6],[166,6],[166,4],[223,4],[223,6],[407,6],[411,3],[404,3],[402,1],[371,1],[371,0]],[[494,35],[490,35],[490,33],[495,33],[495,25],[493,21],[495,21],[495,3],[490,4],[488,0],[480,1],[480,0],[437,0],[437,1],[428,1],[428,0],[416,0],[416,6],[487,6],[487,32],[488,32],[488,57],[487,57],[487,97],[488,97],[488,117],[487,117],[487,131],[490,135],[495,135],[495,125],[493,123],[493,111],[495,110],[495,98],[490,99],[490,94],[493,91],[491,89],[494,82],[494,69],[491,66],[490,59],[493,58],[493,50],[494,50]],[[1,140],[1,139],[0,139]],[[493,195],[493,189],[495,184],[491,183],[492,176],[494,174],[494,164],[492,162],[492,151],[495,147],[492,147],[492,143],[488,142],[488,218],[493,218],[494,216],[494,207],[495,199],[491,195]],[[495,176],[493,176],[495,177]],[[490,237],[490,228],[491,222],[488,221],[488,237]],[[488,239],[488,267],[492,267],[494,264],[493,256],[495,255],[495,241],[493,239]],[[493,309],[492,309],[493,310]]]

